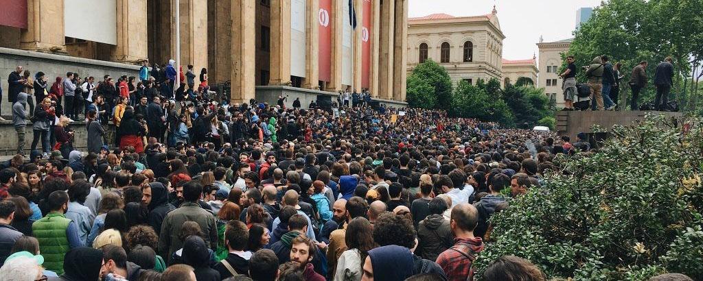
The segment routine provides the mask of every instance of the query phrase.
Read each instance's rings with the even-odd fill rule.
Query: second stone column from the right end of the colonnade
[[[395,29],[395,0],[386,0],[381,5],[380,14],[380,62],[378,76],[378,98],[390,99],[393,96],[393,42]]]

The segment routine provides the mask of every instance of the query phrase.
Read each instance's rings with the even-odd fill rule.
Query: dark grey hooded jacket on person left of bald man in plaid
[[[418,249],[415,254],[436,261],[442,251],[453,245],[449,221],[441,214],[431,214],[418,225]]]

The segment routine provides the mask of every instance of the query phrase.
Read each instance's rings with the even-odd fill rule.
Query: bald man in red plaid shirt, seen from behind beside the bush
[[[437,264],[444,270],[448,280],[473,279],[469,269],[477,254],[484,249],[481,237],[474,236],[477,223],[478,211],[474,205],[461,203],[451,210],[449,225],[454,234],[454,246],[437,257]]]

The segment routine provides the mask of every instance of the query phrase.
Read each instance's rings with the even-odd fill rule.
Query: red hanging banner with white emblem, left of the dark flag
[[[321,81],[332,80],[332,0],[320,0],[318,12],[318,72]]]

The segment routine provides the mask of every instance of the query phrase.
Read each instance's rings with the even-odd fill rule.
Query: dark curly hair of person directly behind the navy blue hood
[[[416,236],[413,221],[391,212],[380,214],[373,225],[373,240],[379,247],[398,245],[412,249]]]

